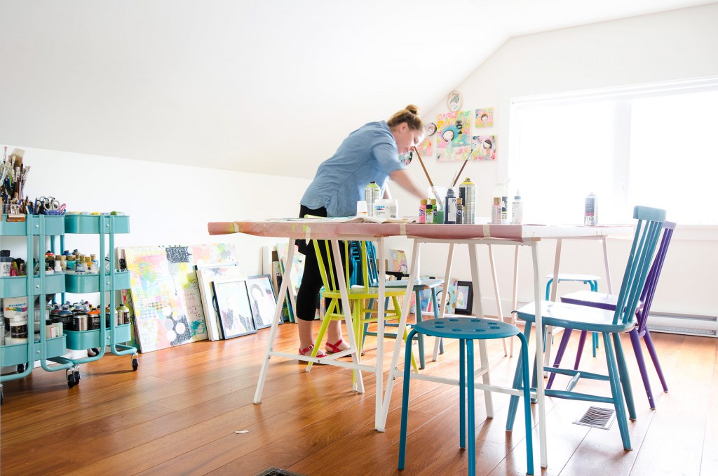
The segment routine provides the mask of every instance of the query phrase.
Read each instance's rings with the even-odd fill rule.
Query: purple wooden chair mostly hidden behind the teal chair
[[[666,379],[663,377],[663,371],[661,371],[661,364],[658,362],[658,354],[656,354],[656,347],[653,346],[653,340],[651,339],[651,332],[648,331],[648,313],[651,311],[651,303],[653,303],[653,294],[656,293],[656,285],[658,285],[658,277],[661,275],[661,268],[663,268],[663,260],[666,259],[666,252],[668,251],[668,244],[671,243],[671,237],[673,236],[673,230],[676,229],[676,224],[672,221],[666,221],[663,224],[663,237],[661,237],[661,244],[658,246],[658,252],[656,257],[653,258],[653,264],[651,270],[648,272],[648,278],[645,280],[643,291],[640,295],[640,302],[642,305],[638,306],[636,312],[636,326],[632,331],[629,332],[630,342],[633,345],[633,352],[635,352],[635,359],[638,362],[638,368],[640,369],[640,375],[643,379],[643,386],[645,387],[645,393],[648,395],[648,403],[651,409],[656,409],[656,403],[653,401],[653,392],[651,392],[651,383],[648,380],[648,372],[645,369],[645,360],[643,360],[643,352],[640,348],[640,338],[643,337],[645,347],[648,349],[648,354],[651,355],[653,360],[653,367],[656,367],[658,372],[658,378],[661,379],[661,385],[663,385],[663,391],[668,391],[668,385],[666,385]],[[603,294],[595,293],[593,291],[579,291],[577,293],[569,293],[561,296],[562,303],[579,304],[582,306],[591,306],[595,308],[607,309],[614,311],[616,308],[618,296],[614,294]],[[574,370],[578,370],[579,362],[581,362],[581,354],[583,352],[584,344],[586,342],[587,331],[581,331],[581,337],[579,338],[579,348],[576,353],[576,361],[574,362]],[[571,337],[571,329],[564,330],[564,335],[561,337],[561,343],[559,349],[556,351],[556,360],[554,361],[554,367],[559,367],[561,358],[564,356],[566,347],[569,343],[569,337]],[[549,377],[549,383],[546,388],[551,388],[554,383],[554,377],[556,374],[551,373]]]

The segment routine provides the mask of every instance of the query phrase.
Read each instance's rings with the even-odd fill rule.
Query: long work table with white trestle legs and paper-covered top
[[[545,239],[557,240],[556,260],[554,265],[554,275],[559,274],[559,261],[561,250],[561,239],[602,239],[604,240],[604,260],[606,264],[607,278],[610,280],[610,271],[608,270],[608,260],[605,253],[605,237],[609,235],[628,235],[632,232],[631,226],[571,226],[571,225],[495,225],[495,224],[474,224],[474,225],[453,225],[453,224],[417,224],[417,223],[372,223],[372,222],[356,222],[342,221],[342,219],[281,219],[266,221],[227,221],[227,222],[211,222],[208,224],[210,234],[231,234],[243,233],[251,234],[259,237],[277,237],[289,239],[289,253],[287,262],[292,262],[294,257],[294,239],[327,239],[332,244],[332,250],[335,255],[339,253],[340,240],[370,240],[377,244],[378,257],[386,257],[384,249],[384,239],[387,237],[404,236],[413,240],[413,252],[411,257],[409,283],[414,282],[419,275],[419,261],[421,259],[421,245],[424,243],[444,243],[449,249],[447,252],[447,267],[445,275],[445,283],[449,282],[449,274],[451,273],[451,265],[454,254],[454,247],[457,244],[467,244],[469,247],[470,265],[472,273],[472,286],[475,292],[473,300],[473,314],[476,316],[484,316],[481,303],[481,290],[478,274],[478,260],[476,245],[513,245],[527,246],[531,248],[531,256],[533,263],[533,301],[536,303],[536,329],[541,329],[541,303],[544,301],[544,293],[541,290],[542,279],[538,266],[538,245]],[[518,253],[517,253],[518,257]],[[344,275],[342,269],[342,260],[334,260],[337,267],[337,275]],[[492,262],[493,268],[493,262]],[[514,268],[516,270],[516,266]],[[284,277],[282,279],[277,302],[284,302],[286,290],[290,284],[289,278],[290,267],[285,267]],[[378,275],[386,274],[386,262],[384,259],[378,260]],[[516,282],[516,278],[515,278]],[[342,294],[342,306],[345,309],[350,308],[349,298],[345,287],[344,280],[339,280],[340,291]],[[378,313],[383,316],[384,299],[382,298],[385,291],[383,280],[379,280]],[[411,286],[406,290],[404,303],[411,303]],[[514,291],[516,294],[516,291]],[[444,300],[447,293],[443,293]],[[556,296],[556,287],[554,286],[553,298]],[[401,321],[397,335],[402,335],[406,319],[409,315],[409,305],[403,306],[401,313]],[[442,309],[444,306],[442,306]],[[353,335],[353,326],[351,325],[350,313],[346,316],[346,330],[348,333],[348,342],[355,342]],[[257,383],[254,403],[261,402],[262,390],[266,379],[266,372],[269,366],[270,357],[285,357],[289,359],[307,360],[312,362],[321,362],[329,365],[337,365],[340,367],[352,368],[365,372],[373,372],[376,377],[376,413],[375,423],[378,431],[384,431],[386,426],[386,417],[388,414],[389,403],[391,401],[391,393],[393,389],[393,380],[401,378],[403,372],[398,369],[398,359],[401,354],[402,340],[396,339],[394,351],[392,354],[391,364],[388,366],[388,380],[386,390],[384,389],[384,364],[381,356],[383,355],[383,335],[384,322],[383,319],[378,321],[377,329],[377,359],[375,365],[365,365],[360,362],[360,355],[357,350],[352,347],[350,354],[352,362],[342,362],[335,358],[312,358],[299,356],[286,352],[278,352],[274,350],[274,340],[276,331],[281,319],[281,306],[277,306],[274,315],[274,323],[271,327],[271,335],[267,344],[264,363],[262,364],[259,380]],[[541,332],[533,333],[536,339],[536,362],[544,362],[544,336]],[[547,341],[549,339],[547,338]],[[342,352],[345,354],[345,352]],[[485,356],[482,356],[482,366]],[[485,367],[484,367],[485,368]],[[481,369],[480,369],[481,370]],[[478,372],[478,371],[477,371]],[[358,373],[357,384],[355,390],[363,392],[363,380],[361,372]],[[538,439],[541,451],[541,467],[548,464],[548,456],[546,449],[546,404],[544,401],[544,379],[538,379],[538,388],[536,389],[536,401],[538,411]],[[488,373],[483,372],[482,383],[477,380],[476,388],[482,390],[501,391],[503,393],[512,393],[512,389],[495,388],[490,385]],[[485,391],[487,402],[487,413],[489,417],[493,416],[493,408],[490,401],[491,391]]]

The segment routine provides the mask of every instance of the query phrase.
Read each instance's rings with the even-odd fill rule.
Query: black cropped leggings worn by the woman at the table
[[[301,205],[299,207],[299,218],[304,218],[305,215],[327,216],[327,209],[323,206],[320,209],[309,209]],[[299,247],[299,252],[305,256],[302,283],[299,285],[299,291],[297,291],[297,319],[314,321],[314,314],[319,306],[319,293],[324,283],[322,283],[322,275],[319,272],[319,262],[317,261],[317,253],[314,250],[314,240],[306,243],[304,239],[297,239],[296,243],[297,247]],[[322,252],[322,260],[324,260],[326,264],[327,251],[325,240],[319,240],[319,248]],[[340,242],[339,249],[343,263],[345,259],[344,242]],[[332,253],[332,263],[333,262],[334,255]],[[352,263],[350,262],[349,269],[345,270],[345,273],[351,272]],[[332,269],[332,274],[334,274],[335,283],[338,283],[336,270]]]

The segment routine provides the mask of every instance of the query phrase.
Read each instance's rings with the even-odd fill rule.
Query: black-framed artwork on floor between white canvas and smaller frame
[[[247,283],[237,278],[214,280],[217,312],[225,339],[232,339],[257,331],[249,306]]]

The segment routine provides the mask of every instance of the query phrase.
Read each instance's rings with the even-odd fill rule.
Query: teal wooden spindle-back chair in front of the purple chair
[[[570,303],[554,303],[551,301],[541,303],[541,319],[544,327],[541,331],[544,332],[544,335],[546,326],[598,332],[603,338],[607,366],[607,375],[559,367],[543,367],[544,372],[572,377],[566,390],[546,389],[546,396],[612,404],[615,408],[618,429],[625,449],[631,449],[625,407],[628,406],[628,418],[635,420],[635,403],[633,402],[633,392],[630,387],[623,347],[621,347],[620,334],[630,332],[636,325],[635,311],[640,303],[640,294],[648,277],[651,260],[653,260],[653,255],[656,252],[656,245],[661,236],[661,228],[666,221],[666,211],[646,206],[636,206],[633,209],[633,218],[637,219],[638,222],[635,227],[635,236],[633,237],[633,244],[628,255],[628,262],[626,263],[623,282],[621,283],[621,290],[614,311]],[[515,311],[519,318],[526,321],[524,334],[526,334],[527,339],[531,333],[531,324],[536,321],[534,311],[535,303],[529,303]],[[533,366],[534,383],[536,382],[537,373],[535,362]],[[607,381],[610,384],[611,396],[606,397],[574,391],[582,378]],[[521,385],[520,366],[516,368],[514,385]],[[507,429],[513,427],[516,408],[518,408],[518,398],[512,395],[506,421]]]

